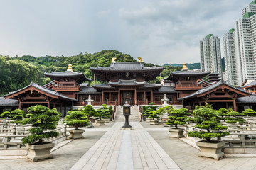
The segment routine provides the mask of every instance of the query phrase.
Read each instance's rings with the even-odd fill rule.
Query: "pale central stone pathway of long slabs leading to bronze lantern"
[[[120,130],[123,124],[115,123],[71,169],[179,169],[140,123]]]

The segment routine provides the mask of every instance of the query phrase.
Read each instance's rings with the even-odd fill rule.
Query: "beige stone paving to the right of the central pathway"
[[[153,127],[152,127],[153,128]],[[151,137],[156,140],[161,148],[171,157],[171,159],[184,170],[246,170],[256,169],[255,157],[225,157],[219,161],[215,159],[198,157],[199,150],[188,145],[182,140],[169,137],[167,131],[149,131]]]

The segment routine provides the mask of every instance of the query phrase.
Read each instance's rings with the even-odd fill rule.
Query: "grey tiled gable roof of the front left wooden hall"
[[[23,87],[22,89],[19,89],[18,91],[22,91],[23,89],[27,89],[27,88],[30,87],[30,86],[33,86],[33,87],[35,87],[35,88],[38,89],[38,90],[41,90],[41,91],[43,91],[43,92],[46,92],[47,94],[51,94],[51,95],[53,95],[53,96],[58,96],[58,97],[60,97],[60,98],[64,98],[64,99],[66,99],[66,100],[68,100],[68,101],[77,101],[77,100],[74,99],[74,98],[70,98],[70,97],[68,97],[68,96],[64,96],[63,94],[59,94],[57,91],[55,91],[55,90],[53,90],[53,89],[48,89],[48,88],[46,88],[46,87],[39,86],[38,84],[35,84],[33,81],[31,81],[31,84],[29,84],[29,85],[26,86],[26,87]],[[5,96],[9,96],[9,95],[11,95],[11,94],[16,94],[18,91],[9,92],[9,94],[7,94],[7,95],[5,95]]]

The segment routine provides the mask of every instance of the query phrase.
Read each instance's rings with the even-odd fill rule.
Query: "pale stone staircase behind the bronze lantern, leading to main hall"
[[[125,118],[123,114],[123,108],[121,106],[117,106],[117,112],[115,113],[115,121],[116,122],[124,122]],[[129,122],[139,122],[141,119],[140,113],[139,113],[139,107],[138,106],[132,106],[131,107],[131,114],[129,116]]]

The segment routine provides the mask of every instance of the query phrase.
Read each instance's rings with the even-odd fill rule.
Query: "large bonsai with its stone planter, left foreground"
[[[22,143],[27,144],[28,155],[27,158],[32,162],[40,159],[52,158],[50,149],[54,147],[54,143],[44,142],[43,140],[49,137],[57,137],[58,132],[44,131],[54,130],[58,125],[59,113],[54,108],[50,110],[46,106],[36,105],[28,108],[28,118],[22,121],[22,124],[31,124],[29,129],[31,135],[22,138]]]

